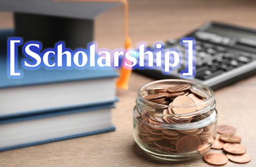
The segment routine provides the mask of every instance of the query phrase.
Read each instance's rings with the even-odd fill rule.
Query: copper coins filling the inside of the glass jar
[[[153,102],[148,106],[154,109],[154,112],[145,109],[137,117],[137,136],[141,143],[150,150],[171,154],[195,151],[202,154],[210,150],[210,145],[214,141],[213,125],[195,129],[188,127],[186,130],[170,130],[164,127],[166,124],[192,123],[207,118],[209,113],[188,116],[182,114],[196,112],[206,107],[205,104],[196,104],[203,103],[208,94],[190,84],[152,87],[146,89],[146,92],[144,99]]]

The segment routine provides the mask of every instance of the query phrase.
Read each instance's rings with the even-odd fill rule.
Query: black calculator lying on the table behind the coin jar
[[[256,73],[256,30],[208,22],[184,37],[196,40],[195,77],[187,80],[219,89]],[[164,48],[181,51],[182,60],[186,60],[185,48],[179,40],[170,39],[163,44]],[[181,78],[180,72],[185,67],[186,61],[181,62],[181,66],[173,69],[170,75],[164,75],[160,69],[135,69],[135,72],[157,80]]]

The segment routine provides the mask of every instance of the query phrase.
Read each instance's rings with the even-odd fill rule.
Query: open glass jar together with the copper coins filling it
[[[182,161],[210,150],[217,130],[212,89],[188,80],[143,85],[133,109],[133,136],[144,151]]]

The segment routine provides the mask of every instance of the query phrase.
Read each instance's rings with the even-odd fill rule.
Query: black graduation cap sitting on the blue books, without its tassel
[[[54,47],[63,40],[66,47],[84,48],[94,40],[94,19],[118,3],[56,2],[53,0],[0,1],[0,10],[14,12],[15,36],[39,40]]]

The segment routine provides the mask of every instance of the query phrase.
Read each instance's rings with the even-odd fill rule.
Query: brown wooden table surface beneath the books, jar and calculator
[[[130,1],[130,35],[137,42],[182,37],[204,22],[222,21],[256,28],[256,1]],[[12,13],[0,12],[0,28],[11,28]],[[123,6],[99,15],[95,21],[95,40],[99,47],[123,47]],[[0,166],[207,166],[202,159],[182,163],[158,161],[145,154],[133,140],[132,109],[136,91],[152,82],[135,73],[129,89],[117,90],[120,101],[113,109],[115,132],[81,137],[46,145],[0,153]],[[215,91],[219,124],[237,128],[242,145],[251,155],[248,164],[256,166],[256,76]]]

